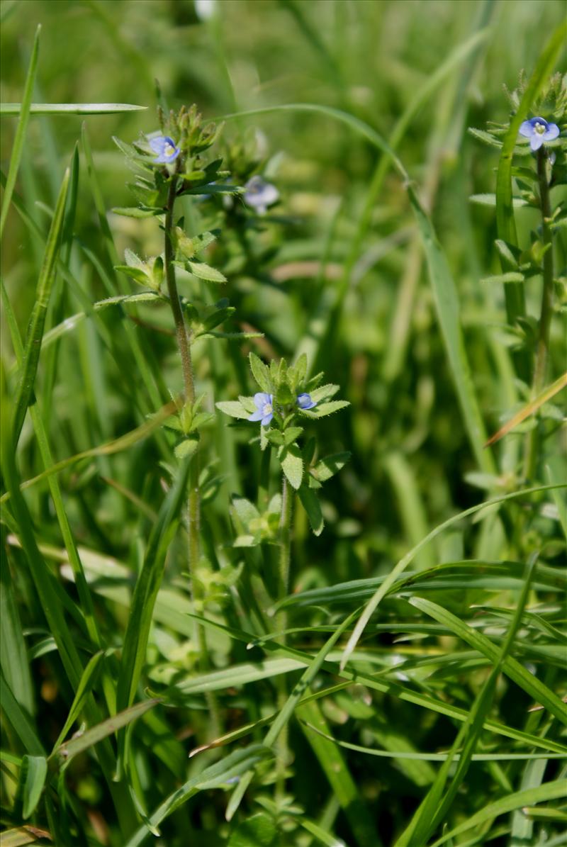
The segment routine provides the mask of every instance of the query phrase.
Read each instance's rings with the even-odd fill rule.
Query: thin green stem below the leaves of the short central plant
[[[291,560],[292,540],[292,507],[293,493],[286,477],[281,486],[281,517],[280,517],[280,555],[278,562],[278,601],[283,600],[289,590],[289,566]],[[282,609],[275,618],[275,628],[280,633],[280,643],[286,644],[285,631],[287,628],[287,612]],[[287,684],[286,674],[277,678],[277,706],[281,711],[286,705]],[[275,787],[276,799],[282,800],[286,793],[286,765],[288,759],[287,724],[282,728],[278,737],[278,757],[276,764],[277,782]]]

